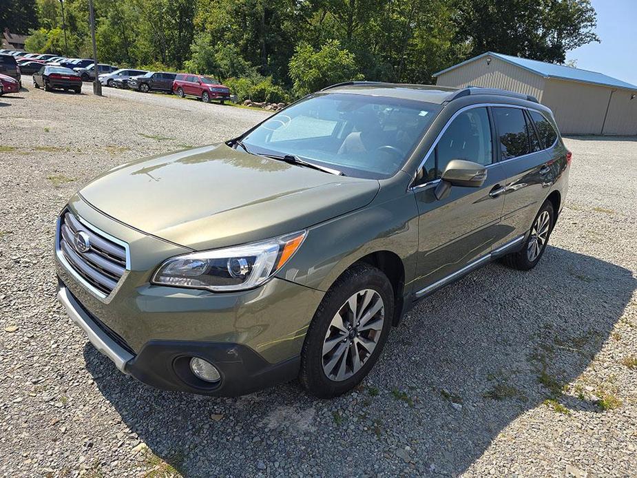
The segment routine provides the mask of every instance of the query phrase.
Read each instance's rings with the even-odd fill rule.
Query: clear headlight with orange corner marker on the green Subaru
[[[177,256],[160,265],[152,282],[210,291],[258,287],[293,256],[306,231],[237,247]]]

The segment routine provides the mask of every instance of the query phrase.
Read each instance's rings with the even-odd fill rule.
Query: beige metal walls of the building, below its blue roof
[[[483,57],[443,73],[438,76],[437,84],[457,88],[470,85],[503,88],[532,94],[553,110],[562,134],[637,135],[637,98],[631,100],[633,92],[629,90],[614,90],[611,96],[612,87],[544,79],[495,57],[491,57],[490,65]]]

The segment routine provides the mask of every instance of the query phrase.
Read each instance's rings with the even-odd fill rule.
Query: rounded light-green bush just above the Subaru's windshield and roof
[[[298,45],[290,60],[290,78],[295,94],[304,96],[334,83],[362,80],[363,75],[355,56],[331,40],[318,51],[309,43]]]

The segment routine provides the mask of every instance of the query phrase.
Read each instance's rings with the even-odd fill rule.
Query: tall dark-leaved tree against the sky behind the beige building
[[[486,51],[563,63],[566,52],[592,41],[590,0],[457,0],[457,41],[470,56]]]

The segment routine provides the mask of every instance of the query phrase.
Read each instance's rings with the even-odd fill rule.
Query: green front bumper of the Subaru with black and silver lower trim
[[[86,287],[56,255],[59,300],[119,370],[158,388],[207,395],[241,395],[295,377],[324,293],[280,278],[233,293],[150,284],[157,264],[183,248],[122,225],[77,196],[69,207],[129,247],[129,269],[106,297]],[[219,386],[184,372],[183,357],[193,356],[218,368]]]

